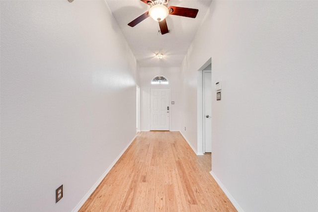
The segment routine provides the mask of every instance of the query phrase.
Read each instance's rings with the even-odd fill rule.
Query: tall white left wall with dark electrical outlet
[[[0,211],[70,212],[136,134],[136,60],[102,0],[1,1],[0,18]]]

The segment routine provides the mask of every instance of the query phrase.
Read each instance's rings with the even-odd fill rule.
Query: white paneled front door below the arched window
[[[169,130],[169,88],[150,88],[150,130]]]

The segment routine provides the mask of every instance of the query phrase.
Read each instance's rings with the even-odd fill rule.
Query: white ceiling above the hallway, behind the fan
[[[135,27],[127,24],[149,10],[141,0],[106,0],[140,67],[180,67],[211,0],[170,0],[168,6],[199,9],[196,18],[168,15],[169,33],[161,35],[151,17]],[[156,58],[162,53],[163,59]]]

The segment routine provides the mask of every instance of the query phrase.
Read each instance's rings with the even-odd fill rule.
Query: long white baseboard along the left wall
[[[79,204],[73,209],[72,212],[78,212],[79,209],[84,205],[86,200],[90,197],[90,195],[95,191],[97,186],[101,183],[101,181],[106,177],[110,169],[115,165],[115,163],[119,160],[119,158],[124,154],[124,152],[127,150],[127,148],[130,146],[130,144],[136,139],[137,135],[134,136],[134,138],[128,143],[128,145],[125,147],[125,149],[116,157],[116,159],[110,164],[110,166],[106,169],[106,171],[102,174],[102,176],[97,180],[97,182],[91,187],[91,189],[87,192],[87,194],[81,199]]]

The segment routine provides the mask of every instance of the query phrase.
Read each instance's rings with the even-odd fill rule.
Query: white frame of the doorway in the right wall
[[[197,72],[197,155],[204,155],[203,149],[203,70],[212,65],[212,58],[205,62]],[[212,73],[212,70],[211,70]],[[211,97],[212,98],[212,97]],[[212,112],[213,113],[213,112]],[[212,114],[211,114],[212,116]]]

